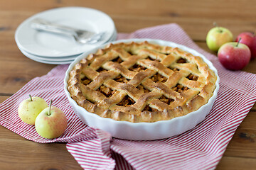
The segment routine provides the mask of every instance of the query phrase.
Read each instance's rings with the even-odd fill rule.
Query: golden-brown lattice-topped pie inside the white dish
[[[217,79],[201,57],[146,41],[110,44],[80,60],[69,76],[68,91],[79,106],[133,123],[198,110]]]

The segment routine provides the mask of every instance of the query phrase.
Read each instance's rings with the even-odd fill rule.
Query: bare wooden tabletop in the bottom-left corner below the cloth
[[[81,169],[65,143],[28,141],[0,126],[0,169]]]

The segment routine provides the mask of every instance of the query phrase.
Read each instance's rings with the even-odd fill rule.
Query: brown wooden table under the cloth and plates
[[[235,36],[255,31],[256,1],[175,0],[0,0],[0,102],[9,98],[34,77],[55,65],[28,59],[18,50],[14,33],[18,25],[35,13],[61,6],[86,6],[109,14],[119,33],[139,28],[178,23],[204,50],[206,34],[216,21]],[[243,69],[256,73],[256,60]],[[235,132],[217,169],[256,168],[256,115],[254,106]],[[0,126],[0,169],[81,169],[65,144],[38,144]]]

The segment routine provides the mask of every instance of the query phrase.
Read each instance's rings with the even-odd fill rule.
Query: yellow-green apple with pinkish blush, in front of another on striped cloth
[[[39,113],[36,118],[36,132],[38,132],[41,137],[48,139],[53,139],[62,135],[68,125],[68,120],[65,113],[55,106],[51,106],[52,101],[50,101],[50,106],[45,108],[41,113]]]

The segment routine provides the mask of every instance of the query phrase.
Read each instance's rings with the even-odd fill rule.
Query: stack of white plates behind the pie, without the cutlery
[[[75,42],[72,37],[34,30],[31,28],[31,21],[36,18],[105,34],[99,42],[81,44]],[[37,13],[23,21],[15,33],[16,43],[23,55],[46,64],[69,64],[83,52],[116,40],[116,38],[117,30],[110,16],[102,11],[83,7],[54,8]]]

